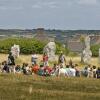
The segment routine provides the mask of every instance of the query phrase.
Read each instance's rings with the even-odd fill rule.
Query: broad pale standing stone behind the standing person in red
[[[43,50],[49,57],[50,61],[55,61],[56,44],[55,42],[49,42]]]

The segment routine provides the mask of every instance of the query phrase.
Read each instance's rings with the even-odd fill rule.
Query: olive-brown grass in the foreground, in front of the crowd
[[[0,100],[100,100],[100,80],[1,74]]]

